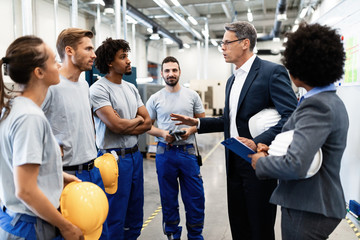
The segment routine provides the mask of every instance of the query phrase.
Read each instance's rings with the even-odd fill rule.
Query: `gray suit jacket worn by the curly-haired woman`
[[[346,206],[339,172],[348,127],[345,106],[335,91],[304,99],[283,128],[283,131],[294,130],[286,155],[259,158],[256,164],[259,178],[280,179],[270,202],[343,218]],[[314,176],[304,179],[320,147],[321,168]]]

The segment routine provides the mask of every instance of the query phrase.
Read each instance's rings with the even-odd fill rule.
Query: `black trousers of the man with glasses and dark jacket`
[[[276,205],[269,199],[277,180],[259,180],[245,160],[230,152],[228,212],[234,240],[274,240]]]

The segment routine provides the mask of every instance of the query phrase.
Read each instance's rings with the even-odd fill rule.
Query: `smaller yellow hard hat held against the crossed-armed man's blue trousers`
[[[99,168],[105,186],[105,192],[114,194],[117,191],[119,168],[115,157],[111,153],[95,159],[95,166]]]

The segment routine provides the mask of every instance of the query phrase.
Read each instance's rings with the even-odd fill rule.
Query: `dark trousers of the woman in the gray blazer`
[[[283,240],[322,240],[339,225],[341,219],[322,214],[281,208],[281,235]]]

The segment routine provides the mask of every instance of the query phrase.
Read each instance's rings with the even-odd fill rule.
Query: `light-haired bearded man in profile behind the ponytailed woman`
[[[61,147],[64,172],[105,190],[100,171],[94,166],[96,145],[89,85],[80,78],[83,71],[92,69],[96,58],[93,36],[91,31],[79,28],[64,29],[59,34],[56,48],[62,61],[60,83],[49,87],[42,109]],[[106,223],[100,239],[107,239]]]

